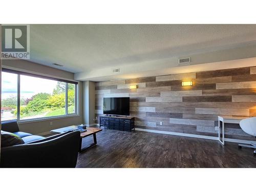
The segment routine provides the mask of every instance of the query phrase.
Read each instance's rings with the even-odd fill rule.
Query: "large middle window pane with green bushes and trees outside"
[[[20,75],[20,119],[66,115],[66,82]]]

